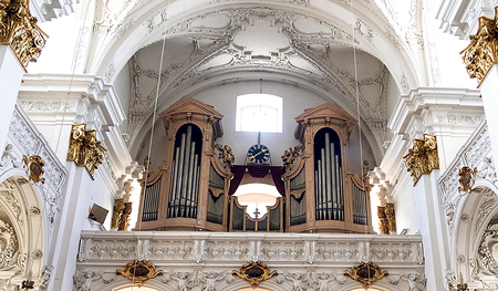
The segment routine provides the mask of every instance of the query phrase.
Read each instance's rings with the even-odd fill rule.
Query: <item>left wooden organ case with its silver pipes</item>
[[[210,230],[228,228],[229,165],[214,153],[222,115],[194,98],[159,114],[167,132],[163,166],[141,180],[137,229]]]

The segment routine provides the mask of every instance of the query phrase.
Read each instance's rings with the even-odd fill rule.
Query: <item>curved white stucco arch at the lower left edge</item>
[[[49,261],[49,232],[45,209],[40,195],[42,184],[28,180],[24,169],[10,168],[0,174],[0,208],[4,210],[18,240],[19,259],[10,274],[11,284],[31,277],[40,285]],[[22,270],[25,270],[22,272]]]

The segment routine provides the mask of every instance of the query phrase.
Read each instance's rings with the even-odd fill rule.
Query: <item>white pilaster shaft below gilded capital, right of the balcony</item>
[[[429,175],[422,175],[412,193],[415,197],[424,246],[426,290],[445,290],[446,253],[449,245],[444,225],[444,210],[439,209],[438,178],[438,169],[434,169]]]

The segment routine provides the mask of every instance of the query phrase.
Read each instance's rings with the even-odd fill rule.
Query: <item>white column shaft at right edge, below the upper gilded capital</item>
[[[498,165],[498,69],[494,64],[480,84],[480,93],[489,128],[492,162]]]

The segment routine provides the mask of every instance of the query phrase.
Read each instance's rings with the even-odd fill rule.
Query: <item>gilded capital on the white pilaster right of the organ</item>
[[[424,141],[413,139],[413,149],[408,149],[408,154],[403,159],[415,186],[422,175],[430,174],[433,169],[439,168],[436,136],[424,134]]]

